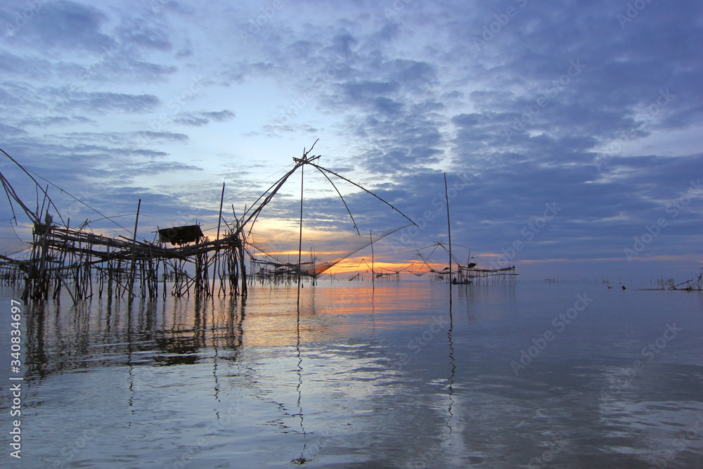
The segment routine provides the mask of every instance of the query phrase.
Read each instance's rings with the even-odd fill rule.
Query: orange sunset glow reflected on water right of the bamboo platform
[[[322,282],[321,282],[322,283]],[[374,330],[426,325],[433,311],[444,311],[444,289],[430,283],[390,281],[304,284],[297,302],[297,286],[250,290],[243,324],[243,342],[255,346],[291,346],[367,337]],[[248,311],[252,311],[251,313]],[[256,311],[256,312],[254,312]]]

